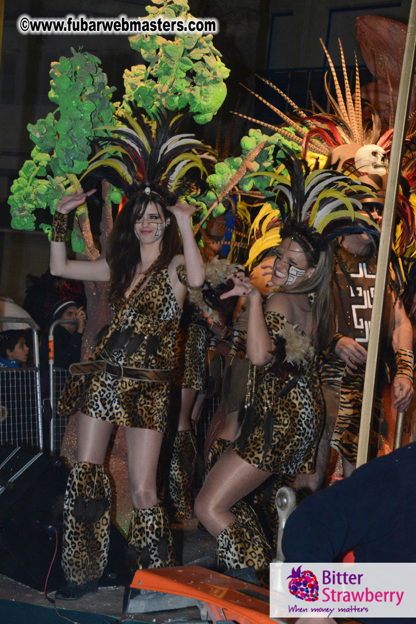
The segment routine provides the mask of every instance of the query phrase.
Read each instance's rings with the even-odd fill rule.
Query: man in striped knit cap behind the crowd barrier
[[[69,369],[70,364],[79,362],[81,357],[82,334],[85,329],[85,311],[75,301],[58,301],[52,310],[52,320],[65,319],[74,323],[58,324],[54,329],[54,365]],[[39,352],[41,368],[48,366],[47,336],[44,337]]]

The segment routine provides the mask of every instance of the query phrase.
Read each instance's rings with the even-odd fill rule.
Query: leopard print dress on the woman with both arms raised
[[[185,267],[177,269],[185,281]],[[168,269],[152,273],[143,290],[139,281],[127,300],[115,307],[115,319],[95,348],[90,359],[105,359],[137,369],[172,370],[175,358],[175,336],[181,315],[168,276]],[[106,346],[116,331],[128,329],[129,340],[123,348]],[[137,348],[128,353],[135,338]],[[138,344],[140,343],[140,344]],[[152,343],[152,348],[150,348]],[[108,351],[111,351],[108,353]],[[170,398],[170,383],[117,378],[104,371],[95,374],[70,375],[59,399],[60,416],[80,411],[88,416],[126,427],[165,431]]]

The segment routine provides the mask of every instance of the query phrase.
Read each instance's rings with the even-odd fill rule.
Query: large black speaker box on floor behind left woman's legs
[[[43,591],[64,585],[60,567],[62,510],[69,475],[56,457],[11,447],[0,448],[0,573]],[[109,563],[100,585],[123,585],[129,578],[124,562],[126,540],[112,524]]]

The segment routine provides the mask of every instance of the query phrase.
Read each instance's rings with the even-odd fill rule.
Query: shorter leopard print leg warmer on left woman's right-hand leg
[[[167,568],[175,565],[175,547],[166,510],[162,505],[133,509],[126,552],[128,567]]]

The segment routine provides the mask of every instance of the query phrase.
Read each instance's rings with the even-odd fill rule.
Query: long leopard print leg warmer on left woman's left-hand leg
[[[102,576],[109,553],[110,507],[104,467],[75,462],[65,492],[62,532],[62,568],[70,584],[85,585]]]

